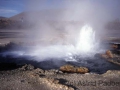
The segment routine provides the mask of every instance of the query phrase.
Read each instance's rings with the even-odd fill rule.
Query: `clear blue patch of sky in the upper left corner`
[[[24,11],[24,0],[0,0],[0,16],[11,17]]]

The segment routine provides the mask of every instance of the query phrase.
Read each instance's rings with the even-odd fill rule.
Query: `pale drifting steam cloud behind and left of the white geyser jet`
[[[114,19],[113,12],[105,0],[30,0],[26,2],[24,20],[33,25],[26,32],[25,42],[36,42],[36,46],[20,55],[39,56],[39,60],[50,57],[66,57],[76,54],[75,45],[79,32],[89,24],[96,33],[96,40],[105,34],[104,25]],[[116,0],[117,2],[117,0]],[[67,53],[67,54],[66,54]]]

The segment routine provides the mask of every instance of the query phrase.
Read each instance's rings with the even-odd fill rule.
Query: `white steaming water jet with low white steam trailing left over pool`
[[[76,38],[76,37],[75,37]],[[30,47],[29,50],[14,50],[2,53],[4,56],[13,55],[19,56],[33,56],[38,61],[47,58],[65,58],[65,60],[76,61],[72,56],[79,55],[81,57],[93,56],[96,53],[96,49],[99,44],[95,40],[95,31],[89,25],[85,25],[81,28],[77,37],[76,45],[49,45],[36,47]],[[16,53],[17,52],[17,53]]]

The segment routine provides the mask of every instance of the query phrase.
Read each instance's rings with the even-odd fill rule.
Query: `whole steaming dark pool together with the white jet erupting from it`
[[[89,25],[80,29],[75,44],[37,45],[10,48],[0,52],[0,62],[32,64],[43,69],[58,69],[65,64],[84,66],[90,72],[104,73],[107,70],[119,69],[119,66],[97,56],[105,52],[95,39],[95,31]]]

